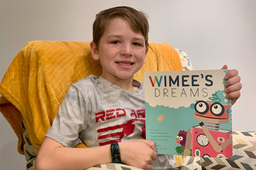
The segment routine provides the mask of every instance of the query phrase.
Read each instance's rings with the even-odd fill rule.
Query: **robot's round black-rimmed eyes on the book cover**
[[[211,114],[213,114],[216,117],[220,117],[224,114],[224,106],[221,105],[221,103],[207,103],[203,100],[199,100],[195,103],[195,111],[198,112],[198,114],[206,114],[208,111],[211,111]]]

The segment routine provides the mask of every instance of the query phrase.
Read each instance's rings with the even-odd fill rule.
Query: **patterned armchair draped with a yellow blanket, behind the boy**
[[[149,43],[146,63],[135,79],[143,81],[144,71],[182,69],[192,70],[185,52],[166,43]],[[89,42],[35,41],[18,52],[0,83],[0,112],[18,137],[18,152],[26,156],[27,169],[35,169],[40,145],[70,84],[101,71],[99,61],[92,59]],[[177,166],[191,169],[256,169],[256,132],[233,131],[233,155],[230,159],[175,158]],[[138,169],[112,163],[89,169],[118,168]]]

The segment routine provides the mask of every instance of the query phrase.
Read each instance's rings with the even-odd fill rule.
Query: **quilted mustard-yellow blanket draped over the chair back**
[[[149,43],[146,63],[135,79],[143,81],[144,71],[173,70],[182,70],[178,53],[166,43]],[[24,154],[21,115],[32,146],[39,150],[70,84],[101,71],[89,42],[27,43],[0,84],[0,111],[17,134],[18,152]]]

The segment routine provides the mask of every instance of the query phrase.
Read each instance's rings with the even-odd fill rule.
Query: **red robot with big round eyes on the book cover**
[[[220,124],[229,123],[229,113],[229,105],[197,101],[193,119],[201,122],[188,129],[184,155],[189,156],[192,152],[192,156],[231,158],[232,131],[220,129]]]

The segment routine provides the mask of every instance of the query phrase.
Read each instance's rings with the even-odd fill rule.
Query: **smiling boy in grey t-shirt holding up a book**
[[[145,63],[148,30],[145,14],[130,7],[110,8],[96,15],[90,48],[93,59],[101,61],[102,74],[71,84],[40,147],[37,169],[87,169],[111,162],[142,169],[176,166],[172,155],[157,155],[154,142],[143,139],[145,118],[131,117],[132,110],[145,109],[144,85],[133,76]],[[233,103],[241,89],[237,74],[236,70],[227,74],[227,97]],[[108,112],[106,120],[97,117],[111,110],[117,118],[111,118],[113,112]],[[132,130],[130,135],[114,128],[123,124],[123,129]],[[116,143],[117,138],[110,134],[98,135],[106,129],[120,134],[121,142]],[[88,148],[71,148],[80,139]]]

